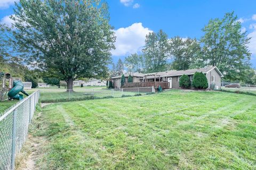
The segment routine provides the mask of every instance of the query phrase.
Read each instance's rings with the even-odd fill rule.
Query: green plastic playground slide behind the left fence
[[[11,90],[8,92],[8,96],[12,99],[22,100],[23,95],[20,95],[19,92],[22,92],[23,94],[28,96],[28,94],[25,91],[23,91],[23,87],[24,85],[21,81],[14,80],[13,88],[11,88]]]

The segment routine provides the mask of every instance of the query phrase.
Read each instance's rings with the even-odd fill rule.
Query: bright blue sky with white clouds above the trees
[[[0,22],[11,24],[14,2],[0,0]],[[234,11],[242,24],[242,31],[251,37],[248,48],[251,63],[256,68],[256,1],[255,0],[106,0],[109,5],[110,24],[116,34],[116,49],[112,57],[119,58],[141,53],[145,36],[162,29],[169,38],[201,38],[202,28],[210,19],[223,18]]]

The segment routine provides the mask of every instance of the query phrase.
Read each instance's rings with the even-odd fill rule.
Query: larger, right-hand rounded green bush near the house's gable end
[[[208,81],[204,73],[196,72],[193,76],[192,87],[196,89],[206,89],[208,88]]]

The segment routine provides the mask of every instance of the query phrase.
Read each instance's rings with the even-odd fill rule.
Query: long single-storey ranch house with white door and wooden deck
[[[133,77],[133,83],[128,83],[128,77],[130,74],[125,74],[125,83],[123,88],[131,88],[131,87],[149,87],[154,86],[157,88],[159,85],[166,88],[179,89],[179,79],[183,74],[189,76],[190,81],[193,80],[193,75],[196,72],[203,72],[206,75],[209,87],[212,83],[215,84],[216,87],[221,86],[221,78],[223,77],[222,73],[216,66],[208,66],[199,69],[190,69],[190,70],[172,70],[166,72],[157,72],[157,73],[131,73]],[[121,75],[117,77],[112,77],[111,80],[114,83],[114,88],[121,88]]]

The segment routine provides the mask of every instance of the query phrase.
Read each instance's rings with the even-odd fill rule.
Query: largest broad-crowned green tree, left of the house
[[[67,82],[107,75],[115,36],[99,0],[20,0],[14,8],[20,50],[42,70]]]

